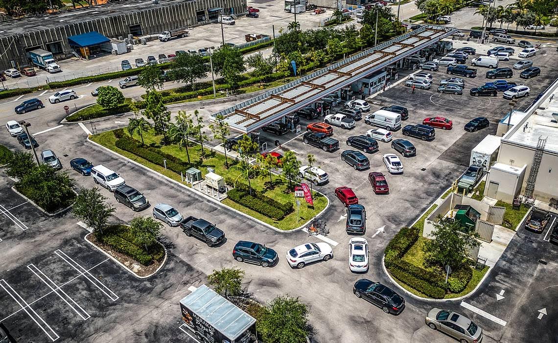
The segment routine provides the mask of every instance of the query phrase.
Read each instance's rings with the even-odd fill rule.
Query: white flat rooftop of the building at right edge
[[[558,153],[558,123],[552,117],[553,113],[558,114],[558,88],[546,96],[548,98],[527,118],[525,124],[506,138],[508,141],[534,148],[539,137],[546,137],[545,150]]]

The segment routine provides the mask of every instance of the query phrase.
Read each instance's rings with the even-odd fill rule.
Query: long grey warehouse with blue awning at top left
[[[30,64],[27,52],[31,50],[44,49],[55,59],[66,59],[92,47],[83,46],[88,44],[83,39],[76,44],[73,36],[80,40],[80,35],[98,32],[108,42],[108,38],[154,35],[216,21],[220,12],[246,12],[246,0],[130,0],[4,21],[0,23],[0,70]]]

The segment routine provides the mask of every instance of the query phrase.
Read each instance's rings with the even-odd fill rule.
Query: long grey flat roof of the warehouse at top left
[[[98,18],[119,16],[123,13],[138,12],[143,11],[144,9],[153,9],[176,3],[193,1],[195,0],[159,0],[158,4],[153,4],[153,2],[149,0],[128,0],[87,8],[70,9],[70,11],[49,13],[35,17],[4,21],[0,23],[0,37],[9,37],[32,31],[48,30],[49,28],[73,23],[82,23]]]

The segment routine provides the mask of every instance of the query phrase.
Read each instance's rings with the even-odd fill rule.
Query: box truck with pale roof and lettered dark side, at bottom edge
[[[253,343],[256,320],[205,284],[180,301],[185,326],[204,343]]]

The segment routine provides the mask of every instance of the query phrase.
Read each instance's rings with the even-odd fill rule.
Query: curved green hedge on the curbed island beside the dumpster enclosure
[[[469,265],[453,270],[446,284],[443,273],[417,267],[402,259],[403,255],[419,239],[419,235],[420,229],[418,228],[402,228],[389,241],[384,250],[384,263],[392,276],[432,298],[443,298],[446,291],[451,293],[463,291],[473,277],[473,271]]]

